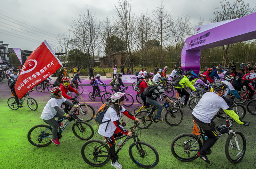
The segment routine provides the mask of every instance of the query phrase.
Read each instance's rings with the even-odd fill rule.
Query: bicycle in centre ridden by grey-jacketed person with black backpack
[[[162,106],[163,106],[162,113],[164,112],[165,109],[167,110],[167,112],[165,113],[165,121],[167,124],[169,124],[170,126],[177,126],[182,122],[183,112],[180,109],[172,108],[172,106],[170,106],[167,101],[164,104],[162,104]],[[153,121],[155,123],[159,122],[159,121],[156,121],[156,113],[155,113],[156,110],[157,108],[153,107],[151,111],[141,110],[137,112],[134,116],[140,119],[141,124],[144,125],[143,127],[138,126],[138,128],[147,129],[153,123]]]

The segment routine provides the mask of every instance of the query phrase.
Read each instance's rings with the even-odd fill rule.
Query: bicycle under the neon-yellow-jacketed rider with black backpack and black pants
[[[189,93],[190,94],[190,98],[188,99],[188,104],[190,105],[189,108],[191,110],[193,110],[196,107],[196,105],[198,104],[199,100],[201,99],[200,96],[194,95],[192,91],[193,90],[191,90],[191,92]],[[182,103],[182,98],[183,97],[184,97],[184,100],[185,100],[186,95],[180,96],[180,94],[179,94],[179,98],[178,99],[172,98],[171,100],[173,101],[173,107],[178,107],[179,109],[180,109],[180,107],[184,108],[183,103]]]

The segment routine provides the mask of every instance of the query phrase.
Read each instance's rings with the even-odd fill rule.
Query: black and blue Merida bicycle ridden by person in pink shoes
[[[59,127],[59,132],[58,132],[59,139],[62,137],[61,133],[67,127],[68,123],[71,121],[75,122],[72,126],[72,131],[77,138],[80,138],[82,140],[89,140],[93,137],[94,130],[92,126],[84,121],[80,121],[77,117],[78,115],[79,115],[79,110],[74,109],[70,113],[70,117],[68,118],[63,117],[62,119],[57,120],[57,122],[60,122],[62,120],[68,119],[67,123],[63,126],[62,129],[60,129]],[[36,125],[28,131],[28,141],[29,143],[31,143],[36,147],[45,147],[51,144],[52,143],[51,139],[52,139],[51,125],[50,126],[45,124]]]

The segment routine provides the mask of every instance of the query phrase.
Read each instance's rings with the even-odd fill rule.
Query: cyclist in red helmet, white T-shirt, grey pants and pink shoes
[[[44,120],[45,123],[52,126],[52,142],[56,145],[59,145],[58,139],[58,128],[61,126],[60,122],[55,120],[55,117],[58,117],[58,120],[62,119],[64,116],[69,117],[67,113],[60,109],[62,103],[65,103],[74,108],[79,108],[79,105],[75,105],[69,101],[67,101],[64,97],[62,97],[62,92],[60,87],[54,87],[50,91],[52,94],[50,96],[50,100],[46,103],[44,110],[41,115],[41,119]]]

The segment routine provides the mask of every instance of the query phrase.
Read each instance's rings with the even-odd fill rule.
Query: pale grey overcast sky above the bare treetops
[[[213,8],[220,7],[221,0],[165,0],[165,10],[173,17],[189,15],[194,25],[199,16],[204,24],[212,18]],[[229,0],[234,2],[234,0]],[[250,7],[256,5],[255,0],[244,0]],[[83,12],[86,6],[95,12],[97,20],[106,16],[115,17],[114,5],[117,0],[5,0],[0,3],[0,41],[11,48],[35,50],[44,40],[55,44],[54,34],[66,32],[72,17]],[[137,16],[152,12],[161,5],[161,0],[132,0],[132,11]],[[23,38],[23,39],[21,39]],[[25,40],[26,39],[26,40]]]

